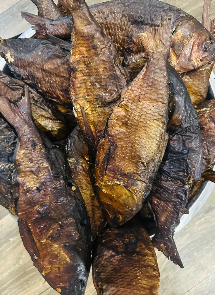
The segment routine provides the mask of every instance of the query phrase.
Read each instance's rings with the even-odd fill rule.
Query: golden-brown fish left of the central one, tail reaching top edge
[[[61,2],[70,10],[74,23],[70,94],[85,141],[95,149],[126,86],[126,73],[113,43],[104,36],[85,1]]]

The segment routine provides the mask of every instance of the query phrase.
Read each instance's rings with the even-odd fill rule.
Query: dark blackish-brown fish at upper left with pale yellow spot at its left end
[[[70,103],[70,46],[70,43],[58,38],[54,41],[1,39],[0,56],[6,60],[16,78],[21,78],[45,97],[61,104]]]

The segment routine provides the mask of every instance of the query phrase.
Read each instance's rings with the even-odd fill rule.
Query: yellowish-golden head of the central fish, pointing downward
[[[143,198],[119,183],[104,184],[99,193],[107,222],[117,227],[131,219],[142,207]]]

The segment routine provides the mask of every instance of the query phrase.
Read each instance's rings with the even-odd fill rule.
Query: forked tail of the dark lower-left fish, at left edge
[[[26,125],[32,117],[28,86],[25,86],[25,96],[16,105],[0,96],[0,112],[16,130],[20,129],[23,123]]]

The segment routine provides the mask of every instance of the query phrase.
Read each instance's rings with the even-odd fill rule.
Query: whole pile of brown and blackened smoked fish
[[[32,1],[34,36],[0,39],[0,204],[60,294],[91,265],[100,295],[158,294],[154,247],[183,268],[174,231],[215,181],[211,0],[202,24],[157,0]]]

